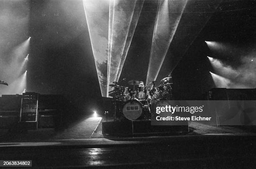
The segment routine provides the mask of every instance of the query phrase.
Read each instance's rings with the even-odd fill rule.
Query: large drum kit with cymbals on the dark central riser
[[[116,121],[116,113],[118,112],[117,107],[122,107],[119,112],[123,114],[122,117],[125,119],[150,119],[152,102],[172,99],[173,82],[171,76],[162,79],[157,87],[155,87],[156,81],[150,82],[146,87],[142,87],[142,85],[137,87],[139,84],[140,81],[138,80],[128,81],[128,85],[132,88],[118,85],[118,82],[110,84],[113,90],[108,93],[110,97],[113,97],[115,105],[114,121]]]

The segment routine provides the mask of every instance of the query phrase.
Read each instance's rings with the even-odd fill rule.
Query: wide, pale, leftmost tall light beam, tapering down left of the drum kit
[[[109,2],[105,0],[83,0],[92,53],[97,77],[103,97],[107,96],[108,75],[108,14]]]

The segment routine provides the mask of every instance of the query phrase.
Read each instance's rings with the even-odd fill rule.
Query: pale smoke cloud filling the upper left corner
[[[0,1],[0,80],[8,84],[19,77],[18,70],[27,55],[23,42],[28,39],[29,7],[28,0]],[[0,87],[0,94],[15,92],[10,86]]]

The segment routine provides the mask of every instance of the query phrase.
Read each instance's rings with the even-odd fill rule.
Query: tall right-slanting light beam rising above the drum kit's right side
[[[156,77],[159,74],[186,4],[187,0],[159,1],[146,85],[149,82],[156,80]]]

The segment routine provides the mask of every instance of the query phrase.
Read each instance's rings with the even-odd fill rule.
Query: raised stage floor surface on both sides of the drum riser
[[[74,122],[64,131],[56,132],[50,129],[28,130],[26,134],[10,134],[8,130],[0,130],[0,142],[40,142],[70,139],[104,138],[100,131],[101,117],[84,117]],[[200,134],[255,134],[256,126],[210,126],[197,122],[189,122],[189,133]],[[176,134],[179,135],[179,134]],[[184,134],[183,134],[184,135]],[[109,137],[108,137],[109,138]]]

